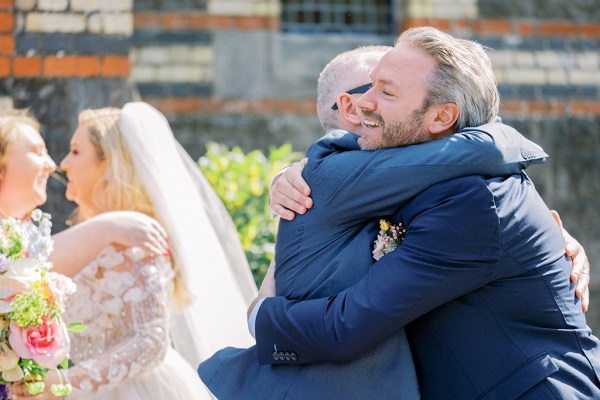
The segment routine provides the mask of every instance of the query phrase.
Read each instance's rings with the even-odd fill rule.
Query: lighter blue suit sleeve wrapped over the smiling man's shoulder
[[[393,214],[448,179],[507,176],[547,157],[535,143],[499,122],[418,145],[374,152],[357,149],[356,139],[338,133],[317,142],[308,154],[303,174],[315,188],[313,200],[336,225]]]

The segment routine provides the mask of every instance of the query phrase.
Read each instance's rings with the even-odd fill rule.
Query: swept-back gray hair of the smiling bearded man
[[[424,107],[456,104],[460,110],[456,131],[483,125],[498,115],[500,93],[484,46],[431,27],[404,31],[396,39],[398,45],[418,49],[435,60],[437,68],[428,79]]]

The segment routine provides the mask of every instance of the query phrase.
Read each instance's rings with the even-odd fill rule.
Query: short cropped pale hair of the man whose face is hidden
[[[390,46],[362,46],[338,54],[319,75],[317,114],[325,132],[338,128],[338,111],[331,106],[340,93],[371,82],[371,71]]]

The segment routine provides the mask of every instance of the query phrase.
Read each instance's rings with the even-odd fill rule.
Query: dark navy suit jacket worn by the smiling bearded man
[[[600,342],[561,232],[524,173],[441,182],[400,221],[403,244],[352,288],[262,303],[260,362],[348,361],[406,327],[424,399],[600,399]],[[296,360],[274,360],[274,347]]]

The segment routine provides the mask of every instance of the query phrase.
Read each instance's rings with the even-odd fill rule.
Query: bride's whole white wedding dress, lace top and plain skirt
[[[193,400],[212,397],[196,371],[170,345],[173,269],[167,258],[109,246],[73,277],[66,304],[71,360],[64,371],[74,399]]]

